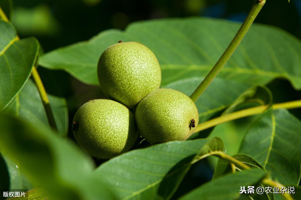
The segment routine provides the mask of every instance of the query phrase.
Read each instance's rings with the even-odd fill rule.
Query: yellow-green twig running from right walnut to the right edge
[[[244,110],[240,110],[237,112],[233,112],[230,114],[222,115],[220,117],[216,117],[212,120],[208,120],[206,122],[200,123],[197,125],[197,128],[195,130],[195,133],[205,130],[211,127],[214,127],[218,124],[225,123],[227,121],[232,121],[236,120],[242,117],[247,117],[255,114],[260,114],[268,108],[268,105],[261,105],[261,106],[256,106],[253,108],[247,108]],[[291,102],[284,102],[284,103],[279,103],[279,104],[274,104],[272,105],[272,109],[276,110],[279,108],[286,108],[286,109],[293,109],[293,108],[301,108],[301,100],[296,100],[296,101],[291,101]]]

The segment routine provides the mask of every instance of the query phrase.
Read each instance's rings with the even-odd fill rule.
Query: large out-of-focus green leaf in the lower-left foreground
[[[0,152],[18,164],[29,179],[42,185],[50,199],[114,199],[94,164],[76,145],[49,129],[0,115]]]

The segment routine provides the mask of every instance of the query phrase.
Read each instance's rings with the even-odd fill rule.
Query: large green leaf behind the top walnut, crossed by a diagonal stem
[[[204,77],[239,27],[240,23],[207,18],[137,22],[125,31],[107,30],[88,42],[49,52],[42,56],[40,64],[64,69],[84,83],[98,84],[97,61],[104,49],[119,40],[136,41],[157,56],[165,86],[185,78]],[[301,88],[300,54],[301,43],[295,37],[275,27],[254,24],[219,77],[251,84],[285,77]]]

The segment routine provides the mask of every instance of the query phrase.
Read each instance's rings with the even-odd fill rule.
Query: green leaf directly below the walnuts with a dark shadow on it
[[[94,175],[120,199],[169,199],[200,156],[223,150],[219,138],[168,142],[113,158]]]

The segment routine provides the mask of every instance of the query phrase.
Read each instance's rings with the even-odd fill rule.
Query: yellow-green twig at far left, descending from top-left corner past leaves
[[[6,17],[5,13],[3,12],[2,8],[0,7],[0,18],[6,22],[9,22],[8,18]],[[20,40],[19,36],[17,36],[17,40]],[[54,120],[54,115],[52,113],[52,110],[51,110],[51,107],[50,107],[50,103],[49,103],[49,99],[48,99],[48,96],[47,96],[47,93],[46,93],[46,90],[43,86],[43,83],[42,83],[42,80],[39,76],[39,73],[38,71],[36,70],[36,67],[33,66],[33,69],[32,69],[32,75],[33,75],[33,79],[35,80],[36,82],[36,85],[38,87],[38,90],[39,90],[39,93],[40,93],[40,96],[42,98],[42,102],[43,102],[43,105],[44,105],[44,109],[45,109],[45,112],[46,112],[46,115],[47,115],[47,119],[48,119],[48,122],[49,122],[49,125],[54,129],[54,130],[57,130],[57,126],[55,124],[55,120]]]

